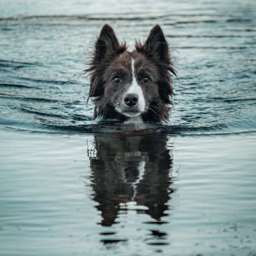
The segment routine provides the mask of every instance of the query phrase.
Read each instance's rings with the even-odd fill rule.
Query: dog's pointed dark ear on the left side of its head
[[[100,62],[106,54],[116,52],[120,49],[120,44],[111,26],[105,24],[100,31],[100,35],[95,42],[94,60]]]

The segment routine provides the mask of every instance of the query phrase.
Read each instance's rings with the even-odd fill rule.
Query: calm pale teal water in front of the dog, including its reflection
[[[1,255],[255,255],[255,134],[0,136]]]

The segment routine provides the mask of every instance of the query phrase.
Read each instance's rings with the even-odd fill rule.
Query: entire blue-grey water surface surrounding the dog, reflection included
[[[256,4],[119,2],[0,3],[0,255],[256,255]],[[163,28],[170,125],[92,122],[106,22]]]

